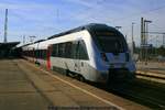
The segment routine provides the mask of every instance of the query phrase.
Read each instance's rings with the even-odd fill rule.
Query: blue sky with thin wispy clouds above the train
[[[0,42],[3,42],[4,10],[8,15],[8,41],[30,42],[46,38],[88,23],[122,26],[120,31],[140,45],[141,18],[151,20],[148,31],[165,32],[165,0],[0,0]],[[148,43],[162,45],[163,35],[150,34]]]

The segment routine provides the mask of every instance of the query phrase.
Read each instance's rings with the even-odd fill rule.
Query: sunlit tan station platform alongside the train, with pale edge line
[[[0,59],[0,110],[55,110],[56,107],[148,110],[24,59]]]

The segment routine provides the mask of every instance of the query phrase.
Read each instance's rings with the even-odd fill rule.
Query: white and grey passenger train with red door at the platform
[[[107,24],[90,23],[21,48],[24,58],[81,81],[105,84],[135,77],[135,64],[124,36]]]

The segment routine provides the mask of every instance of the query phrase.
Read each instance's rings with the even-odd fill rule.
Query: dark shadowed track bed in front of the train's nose
[[[135,101],[151,109],[165,110],[165,85],[136,79],[129,84],[116,84],[111,87],[97,86],[108,92]]]

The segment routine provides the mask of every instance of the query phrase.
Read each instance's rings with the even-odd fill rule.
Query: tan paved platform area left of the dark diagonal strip
[[[46,110],[48,105],[15,63],[0,61],[0,110]]]

